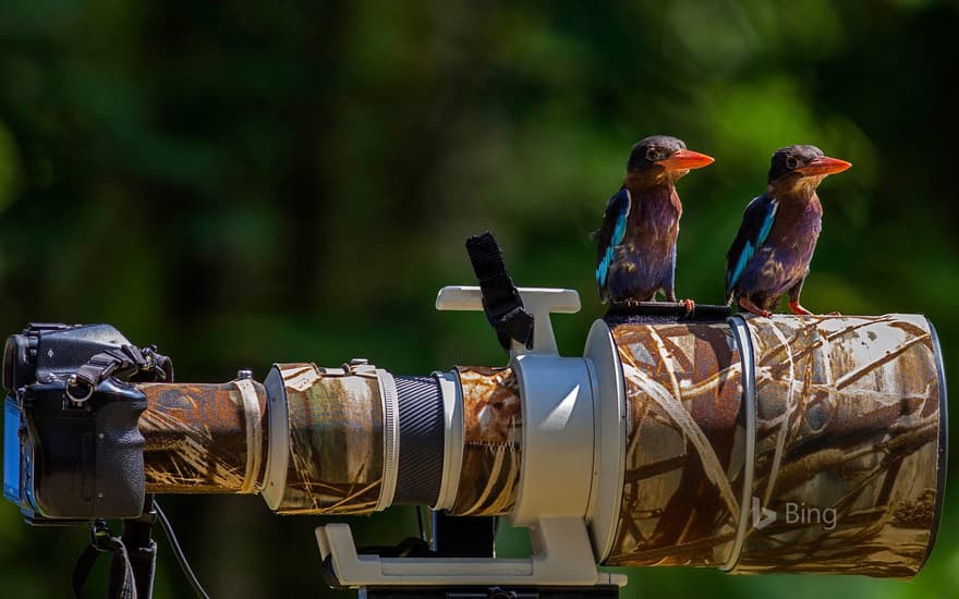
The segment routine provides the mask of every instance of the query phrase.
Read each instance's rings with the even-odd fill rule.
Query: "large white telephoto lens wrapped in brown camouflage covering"
[[[142,384],[147,490],[566,518],[616,566],[910,578],[932,550],[946,387],[924,317],[611,319],[582,357],[545,345],[429,376]]]

